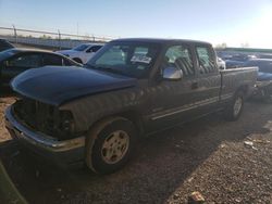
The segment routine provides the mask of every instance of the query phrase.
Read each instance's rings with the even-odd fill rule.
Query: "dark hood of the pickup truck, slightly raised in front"
[[[11,87],[22,95],[60,105],[88,94],[136,86],[137,79],[76,66],[45,66],[16,76]]]

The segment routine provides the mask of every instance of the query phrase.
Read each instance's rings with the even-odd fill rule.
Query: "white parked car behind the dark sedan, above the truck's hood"
[[[102,43],[82,43],[73,48],[72,50],[60,50],[57,51],[57,53],[61,53],[65,56],[73,59],[75,62],[85,64],[102,47],[103,47]]]

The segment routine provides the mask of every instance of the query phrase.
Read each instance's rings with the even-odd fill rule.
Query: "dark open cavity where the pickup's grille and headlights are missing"
[[[30,129],[51,136],[58,140],[75,137],[75,123],[70,111],[22,98],[12,105],[13,115]]]

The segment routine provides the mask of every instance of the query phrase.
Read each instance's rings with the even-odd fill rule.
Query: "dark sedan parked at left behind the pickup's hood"
[[[20,73],[47,65],[81,66],[73,60],[49,51],[9,49],[0,52],[0,87],[8,87]]]

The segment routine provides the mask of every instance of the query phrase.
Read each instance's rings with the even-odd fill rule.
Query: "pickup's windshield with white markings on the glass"
[[[149,73],[158,51],[156,43],[112,42],[87,63],[87,68],[143,78]]]

